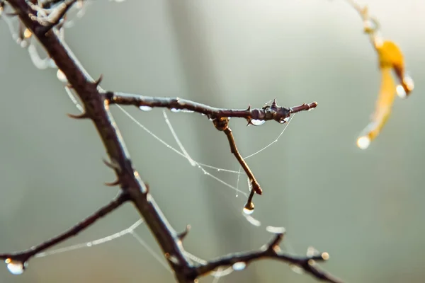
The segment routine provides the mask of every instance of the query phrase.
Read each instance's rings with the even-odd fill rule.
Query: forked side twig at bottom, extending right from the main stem
[[[211,260],[205,265],[196,267],[196,276],[200,277],[208,275],[208,273],[217,270],[220,267],[231,266],[234,270],[244,270],[250,262],[263,259],[280,260],[288,262],[290,265],[296,265],[302,268],[305,272],[309,273],[313,277],[332,283],[341,283],[340,279],[337,279],[329,273],[319,270],[317,267],[317,261],[326,261],[329,259],[328,253],[321,253],[319,255],[311,255],[306,257],[297,257],[293,255],[285,255],[280,253],[279,244],[283,240],[284,233],[276,233],[275,237],[263,246],[258,251],[236,253],[230,255],[224,255],[216,260]]]

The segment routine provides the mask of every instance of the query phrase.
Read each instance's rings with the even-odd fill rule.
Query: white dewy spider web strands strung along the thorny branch
[[[117,1],[117,0],[115,0],[115,1]],[[76,16],[77,17],[83,16],[84,13],[85,13],[85,8],[86,8],[86,5],[80,7],[79,10],[76,13]],[[8,17],[2,17],[2,19],[8,25],[8,28],[11,32],[13,40],[16,40],[18,45],[20,45],[21,47],[26,48],[28,50],[28,54],[30,55],[30,59],[32,60],[35,67],[37,67],[38,69],[57,69],[55,62],[53,62],[52,59],[50,59],[49,57],[42,58],[42,56],[40,56],[40,52],[38,51],[38,49],[35,45],[35,40],[33,40],[32,37],[30,37],[30,34],[28,35],[28,33],[27,33],[28,37],[26,37],[26,33],[24,33],[24,37],[20,37],[18,35],[18,31],[17,31],[17,28],[16,28],[16,23],[17,23],[16,19],[8,18]],[[74,22],[69,21],[69,22],[67,22],[67,25],[65,25],[65,27],[68,28],[68,27],[71,27],[72,25],[74,25]],[[56,31],[56,33],[62,39],[64,38],[63,29],[62,29],[62,31]],[[62,83],[64,83],[65,85],[67,84],[67,79],[60,69],[57,69],[57,79],[62,81]],[[83,112],[84,108],[79,104],[79,100],[77,100],[72,89],[69,88],[68,86],[64,86],[64,90],[66,91],[67,95],[69,96],[69,99],[72,100],[72,103],[74,103],[76,108],[80,112]],[[116,105],[116,107],[120,111],[122,111],[125,114],[125,116],[128,117],[128,119],[130,119],[132,122],[134,122],[135,125],[137,125],[137,127],[142,129],[143,131],[147,132],[147,134],[149,134],[151,137],[153,137],[154,139],[159,141],[160,144],[163,144],[164,146],[166,146],[166,148],[169,149],[170,151],[172,151],[175,154],[178,154],[179,156],[184,158],[186,161],[188,161],[188,163],[191,164],[191,166],[193,166],[193,168],[196,168],[196,171],[205,175],[206,178],[212,178],[213,180],[220,183],[223,187],[225,187],[225,188],[227,188],[231,191],[234,191],[235,194],[236,194],[235,195],[236,197],[238,197],[239,195],[243,195],[244,197],[247,197],[249,195],[249,191],[250,191],[249,180],[247,179],[248,182],[247,182],[246,186],[242,187],[242,185],[241,185],[242,183],[244,183],[244,182],[241,182],[241,178],[246,178],[246,174],[242,171],[242,168],[240,166],[239,166],[239,170],[235,171],[235,170],[232,170],[232,169],[229,169],[229,168],[220,168],[220,167],[211,166],[211,165],[208,165],[208,164],[205,164],[205,163],[200,163],[200,162],[198,162],[198,161],[196,161],[195,159],[192,158],[192,156],[188,153],[188,151],[186,151],[185,147],[183,146],[183,143],[179,139],[179,136],[178,136],[176,130],[171,125],[171,120],[169,119],[168,115],[166,114],[167,111],[165,109],[162,111],[163,117],[164,117],[164,122],[165,122],[166,126],[168,127],[169,132],[171,133],[171,136],[174,138],[174,141],[176,142],[176,145],[177,145],[176,147],[171,146],[171,144],[167,143],[166,141],[164,141],[164,139],[160,138],[159,136],[157,136],[157,134],[154,134],[154,132],[152,132],[150,129],[145,127],[145,125],[142,125],[142,123],[139,120],[137,120],[135,116],[130,115],[130,113],[127,110],[125,110],[123,107],[121,107],[120,105]],[[295,117],[295,114],[290,117],[290,120],[288,120],[288,122],[285,124],[285,127],[283,127],[281,132],[277,135],[276,139],[274,139],[273,141],[268,143],[266,146],[261,147],[261,149],[254,151],[253,153],[251,153],[247,156],[244,156],[244,159],[252,158],[252,157],[260,154],[261,152],[265,151],[266,149],[269,149],[271,146],[273,146],[273,144],[276,144],[280,140],[280,138],[283,136],[285,130],[288,128],[288,125],[290,125],[290,122],[293,120],[293,117]],[[213,173],[211,173],[211,172],[213,172]],[[234,174],[235,185],[227,183],[225,180],[220,178],[217,175],[219,173]],[[242,215],[244,216],[244,219],[246,219],[246,221],[248,221],[253,226],[255,226],[257,228],[263,226],[261,224],[261,221],[259,221],[258,219],[255,219],[253,216],[248,215],[248,214],[244,214],[243,212],[242,212]],[[135,240],[138,243],[140,243],[140,245],[143,246],[147,250],[147,252],[149,254],[151,254],[152,257],[155,260],[157,260],[157,262],[159,262],[160,265],[162,265],[164,267],[165,270],[172,273],[172,270],[170,269],[169,265],[164,260],[164,257],[162,255],[160,255],[159,253],[156,253],[154,251],[154,249],[152,249],[143,240],[143,238],[137,233],[137,229],[140,229],[140,226],[142,226],[143,223],[144,223],[144,220],[140,219],[138,221],[135,221],[135,223],[132,224],[131,226],[129,226],[128,228],[125,228],[125,229],[118,231],[116,233],[113,233],[111,235],[104,236],[103,238],[98,238],[98,239],[95,239],[95,240],[92,240],[92,241],[87,241],[87,242],[84,242],[84,243],[77,243],[75,245],[66,246],[64,248],[50,249],[50,250],[47,250],[45,252],[38,253],[37,255],[35,255],[35,258],[45,258],[45,257],[48,257],[48,256],[57,255],[57,254],[60,254],[60,253],[67,253],[67,252],[71,252],[73,250],[80,250],[80,249],[83,249],[83,248],[84,249],[85,248],[93,248],[94,246],[99,246],[101,244],[108,243],[110,241],[115,241],[118,238],[132,236],[132,238],[135,238]],[[285,231],[285,229],[283,227],[271,226],[271,225],[267,225],[265,230],[270,232],[270,233],[283,233]],[[286,239],[285,239],[285,242],[283,243],[283,245],[288,250],[288,252],[294,253],[293,248],[290,246],[290,244],[288,242],[287,236],[285,236],[285,237],[286,237]],[[196,262],[198,264],[207,263],[205,260],[203,260],[202,258],[198,258],[196,255],[193,255],[192,253],[189,253],[187,251],[185,251],[185,253],[186,253],[185,254],[186,257],[189,260],[191,260],[192,262]],[[301,272],[299,267],[295,267],[295,266],[292,267],[291,266],[291,269],[295,272],[298,272],[298,273]],[[229,275],[234,270],[236,270],[236,268],[233,268],[233,267],[228,267],[228,268],[221,268],[220,267],[220,268],[218,268],[215,272],[210,273],[210,275],[213,277],[212,282],[217,283],[219,281],[220,277],[224,277],[226,275]],[[240,269],[238,269],[238,270],[240,270]]]

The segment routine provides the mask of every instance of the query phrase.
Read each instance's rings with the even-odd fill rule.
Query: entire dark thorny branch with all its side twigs
[[[117,209],[124,202],[130,201],[140,213],[140,216],[145,219],[147,226],[159,243],[165,258],[174,270],[174,275],[178,282],[196,282],[198,277],[208,275],[209,272],[219,267],[232,265],[234,270],[237,270],[238,268],[240,269],[241,265],[247,265],[251,261],[261,260],[263,258],[283,260],[292,265],[297,265],[317,279],[327,282],[339,282],[337,279],[320,271],[315,266],[315,260],[320,261],[329,258],[327,253],[322,253],[322,255],[317,256],[307,255],[306,257],[295,257],[280,253],[278,245],[283,239],[283,233],[276,234],[273,241],[271,241],[266,248],[258,252],[225,255],[222,258],[212,260],[205,264],[193,265],[186,257],[186,253],[182,246],[182,239],[187,234],[188,229],[178,234],[168,223],[164,214],[162,214],[161,210],[154,202],[152,195],[149,194],[149,188],[141,180],[139,173],[132,167],[130,156],[125,148],[123,138],[109,111],[110,104],[119,103],[136,105],[137,107],[148,106],[192,110],[207,115],[214,121],[214,125],[217,129],[225,132],[229,140],[232,154],[236,156],[249,178],[251,178],[253,187],[248,200],[248,203],[251,204],[254,192],[261,192],[261,188],[258,183],[256,183],[254,175],[237,151],[232,132],[228,127],[229,117],[243,117],[248,120],[249,123],[253,123],[254,120],[276,120],[283,123],[291,113],[310,110],[316,107],[317,103],[300,105],[294,108],[283,108],[278,106],[276,101],[274,101],[272,105],[266,105],[261,109],[251,110],[251,108],[248,108],[246,110],[225,110],[211,108],[208,105],[202,105],[179,98],[152,98],[106,92],[99,86],[100,79],[98,81],[91,79],[67,45],[57,36],[57,28],[59,28],[62,18],[65,16],[69,7],[76,3],[76,1],[47,0],[36,4],[37,1],[8,0],[7,2],[0,1],[0,8],[3,8],[5,3],[12,6],[16,12],[15,14],[21,19],[23,25],[33,33],[42,47],[45,48],[47,54],[49,54],[55,62],[57,68],[66,76],[69,87],[72,87],[81,99],[84,105],[84,113],[72,117],[89,119],[94,123],[106,148],[109,159],[111,160],[111,162],[106,162],[106,164],[112,168],[117,175],[117,180],[112,185],[120,185],[122,189],[120,195],[110,204],[99,209],[98,212],[92,214],[84,221],[81,221],[79,224],[72,227],[72,229],[61,233],[59,236],[28,250],[23,250],[22,252],[0,254],[0,258],[6,259],[6,264],[12,265],[18,262],[25,268],[28,260],[37,253],[65,241],[67,238],[77,235],[77,233],[88,228],[97,219]],[[254,204],[252,204],[252,208],[253,207]],[[236,263],[239,263],[239,267],[235,265]]]

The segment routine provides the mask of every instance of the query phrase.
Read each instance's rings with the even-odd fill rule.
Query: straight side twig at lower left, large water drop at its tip
[[[120,207],[121,204],[123,204],[124,202],[127,202],[128,200],[130,200],[128,197],[128,194],[125,192],[121,192],[120,195],[118,195],[118,197],[116,197],[110,203],[106,204],[104,207],[101,207],[101,209],[98,209],[98,211],[94,212],[94,214],[91,214],[89,217],[87,217],[83,221],[72,226],[71,229],[68,229],[64,233],[61,233],[60,235],[55,236],[54,238],[51,238],[50,240],[47,240],[43,243],[40,243],[38,246],[33,246],[29,248],[28,250],[23,250],[16,253],[0,254],[0,259],[6,260],[6,264],[8,265],[9,270],[11,269],[13,270],[13,268],[16,269],[19,265],[21,265],[22,272],[23,272],[30,258],[33,258],[33,256],[42,252],[43,250],[47,250],[47,248],[55,246],[58,243],[62,243],[68,238],[77,236],[78,233],[89,228],[89,226],[94,224],[94,222],[96,222],[98,219],[101,219],[103,216],[106,216],[107,214],[113,212],[115,209]],[[16,269],[16,271],[18,270]]]

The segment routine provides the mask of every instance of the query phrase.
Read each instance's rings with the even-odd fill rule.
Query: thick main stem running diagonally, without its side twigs
[[[30,8],[25,0],[9,0],[8,4],[15,9],[21,21],[33,33],[34,30],[42,27],[38,21],[33,21],[33,18],[30,17],[30,15],[35,14],[35,11]],[[105,92],[91,79],[67,45],[55,33],[52,33],[52,30],[47,33],[34,34],[83,102],[86,115],[94,122],[110,160],[119,166],[119,170],[115,169],[115,174],[120,180],[121,187],[128,192],[130,201],[145,219],[163,253],[169,253],[179,260],[181,264],[179,269],[174,269],[176,270],[176,279],[179,282],[193,282],[186,277],[186,272],[191,268],[191,263],[183,255],[183,247],[176,231],[154,202],[145,183],[140,179],[140,175],[132,168],[130,155],[108,109]],[[174,265],[171,265],[171,267],[174,267]]]

